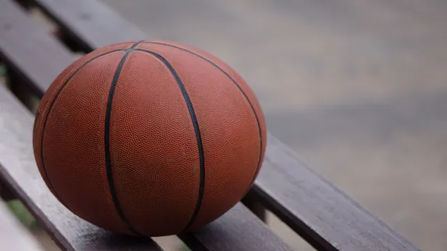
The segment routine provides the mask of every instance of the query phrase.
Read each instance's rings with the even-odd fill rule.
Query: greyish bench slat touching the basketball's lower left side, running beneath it
[[[31,145],[34,116],[0,86],[0,178],[66,250],[161,250],[150,238],[111,234],[73,215],[51,194],[38,172]]]

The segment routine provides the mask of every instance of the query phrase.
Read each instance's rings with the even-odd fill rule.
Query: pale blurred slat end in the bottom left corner
[[[0,201],[0,250],[43,251],[3,201]]]

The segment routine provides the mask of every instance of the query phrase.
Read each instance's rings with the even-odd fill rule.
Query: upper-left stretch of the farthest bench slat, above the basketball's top
[[[126,40],[148,39],[135,24],[98,0],[34,0],[44,12],[78,41],[85,52]]]

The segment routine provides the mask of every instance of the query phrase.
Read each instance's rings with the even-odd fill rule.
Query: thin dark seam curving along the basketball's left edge
[[[48,107],[47,114],[45,115],[45,118],[43,120],[43,128],[42,128],[42,133],[41,133],[41,161],[42,161],[42,169],[43,169],[43,172],[45,173],[45,178],[47,179],[48,187],[50,188],[50,190],[52,190],[52,192],[54,194],[54,197],[59,199],[59,201],[61,201],[61,204],[63,204],[66,208],[68,208],[68,206],[66,205],[66,203],[64,203],[64,201],[61,199],[61,197],[59,197],[59,195],[57,195],[56,190],[54,190],[54,188],[53,188],[53,186],[51,184],[50,177],[48,176],[47,169],[45,168],[45,160],[43,158],[43,141],[44,141],[43,139],[44,139],[44,136],[45,136],[45,128],[47,126],[48,117],[50,116],[52,107],[54,106],[54,103],[56,102],[57,98],[59,98],[59,95],[61,94],[61,91],[64,90],[64,88],[68,84],[68,82],[70,82],[70,80],[76,75],[76,73],[79,72],[80,69],[82,69],[84,66],[87,66],[88,63],[91,63],[91,61],[94,61],[95,59],[98,59],[101,56],[104,56],[104,55],[107,55],[107,54],[111,54],[113,52],[123,52],[123,51],[125,51],[125,50],[118,49],[118,50],[112,50],[110,52],[104,52],[103,54],[99,54],[98,56],[95,56],[94,58],[89,59],[89,61],[83,63],[78,69],[76,69],[73,73],[71,73],[71,75],[66,79],[64,84],[62,84],[61,88],[59,89],[59,91],[57,91],[56,95],[52,99],[52,101],[50,103],[50,107]]]

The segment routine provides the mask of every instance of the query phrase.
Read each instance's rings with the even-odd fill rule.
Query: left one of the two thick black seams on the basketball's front
[[[131,223],[127,220],[126,216],[124,215],[124,211],[122,210],[122,207],[119,204],[117,191],[115,189],[115,183],[113,181],[112,164],[110,162],[110,116],[112,113],[113,95],[115,94],[115,88],[117,86],[119,74],[121,73],[122,68],[124,67],[124,63],[126,62],[126,59],[133,52],[133,50],[135,50],[135,47],[138,44],[142,43],[142,41],[144,41],[144,40],[140,40],[140,41],[134,43],[129,49],[125,50],[126,53],[124,53],[122,59],[118,63],[117,70],[115,70],[115,74],[113,75],[113,78],[112,78],[112,84],[110,84],[107,105],[105,108],[105,123],[104,123],[105,172],[107,174],[110,195],[112,196],[112,201],[113,201],[113,204],[115,205],[115,210],[117,211],[119,218],[121,218],[122,222],[124,222],[124,225],[126,225],[126,227],[130,231],[132,231],[133,234],[138,235],[138,236],[142,236],[143,234],[136,231],[135,228],[132,227]]]

